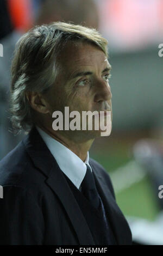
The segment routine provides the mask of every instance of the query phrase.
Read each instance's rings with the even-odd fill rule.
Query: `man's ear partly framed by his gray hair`
[[[26,93],[27,99],[30,103],[30,106],[37,112],[42,114],[49,113],[48,103],[43,98],[40,93],[37,92],[27,92]]]

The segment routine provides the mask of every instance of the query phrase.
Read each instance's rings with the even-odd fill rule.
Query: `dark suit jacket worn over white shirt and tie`
[[[131,244],[109,175],[89,162],[118,245]],[[64,174],[35,128],[0,162],[0,185],[1,245],[95,245]]]

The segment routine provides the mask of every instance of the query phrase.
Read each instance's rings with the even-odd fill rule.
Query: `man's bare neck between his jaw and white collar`
[[[56,139],[56,141],[63,144],[66,148],[70,149],[74,154],[76,154],[83,162],[86,160],[87,151],[91,148],[91,145],[94,141],[94,139],[89,139],[87,141],[80,141],[76,142],[72,138],[68,138],[64,135],[64,133],[59,133],[58,131],[54,131],[51,129],[48,129],[45,126],[38,125],[40,129],[45,131],[49,136]]]

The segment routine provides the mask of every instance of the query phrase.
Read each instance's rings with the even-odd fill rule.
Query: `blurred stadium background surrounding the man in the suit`
[[[111,135],[97,139],[90,155],[110,174],[135,244],[163,245],[163,1],[0,0],[0,19],[0,160],[24,136],[9,132],[17,40],[52,21],[97,28],[109,43],[113,122]]]

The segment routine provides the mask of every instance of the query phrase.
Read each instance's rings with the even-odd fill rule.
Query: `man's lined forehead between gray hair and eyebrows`
[[[101,48],[87,42],[68,44],[60,54],[59,63],[62,72],[67,76],[80,69],[99,70],[110,65]]]

